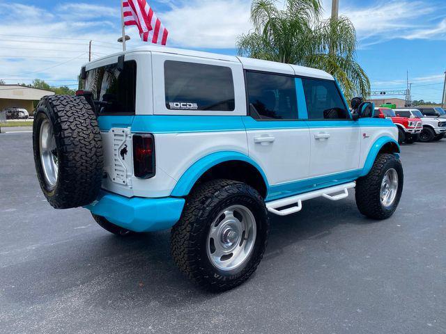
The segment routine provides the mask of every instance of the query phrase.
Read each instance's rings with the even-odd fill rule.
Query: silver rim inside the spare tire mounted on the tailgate
[[[40,125],[40,161],[42,162],[43,176],[45,182],[54,187],[59,172],[59,161],[57,159],[56,140],[54,138],[53,126],[49,120],[43,120]]]

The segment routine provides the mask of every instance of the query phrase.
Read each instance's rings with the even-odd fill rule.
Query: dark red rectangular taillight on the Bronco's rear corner
[[[155,175],[155,141],[151,134],[133,135],[134,176],[148,179]]]

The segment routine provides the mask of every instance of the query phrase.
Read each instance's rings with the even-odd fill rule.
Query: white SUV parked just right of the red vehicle
[[[446,120],[444,118],[432,118],[424,116],[419,109],[394,109],[397,116],[410,119],[420,118],[422,120],[423,130],[420,134],[420,141],[428,143],[429,141],[440,141],[446,134]]]

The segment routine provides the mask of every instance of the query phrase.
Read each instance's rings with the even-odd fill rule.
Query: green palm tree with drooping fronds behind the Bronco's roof
[[[254,30],[238,37],[238,54],[315,67],[332,74],[348,99],[368,97],[370,81],[356,62],[356,31],[347,17],[321,19],[320,0],[254,0]]]

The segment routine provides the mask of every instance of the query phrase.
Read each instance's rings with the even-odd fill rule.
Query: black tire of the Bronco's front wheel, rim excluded
[[[397,197],[390,207],[382,205],[380,200],[381,183],[387,170],[394,168],[398,174]],[[373,219],[385,219],[392,216],[398,207],[403,192],[403,167],[394,154],[378,154],[369,174],[356,181],[355,199],[357,208],[364,216]]]

